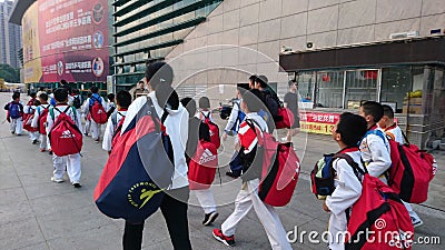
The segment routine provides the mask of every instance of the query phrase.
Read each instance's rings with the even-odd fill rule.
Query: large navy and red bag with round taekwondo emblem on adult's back
[[[160,126],[147,97],[137,116],[116,137],[96,186],[93,200],[103,214],[141,222],[158,210],[175,172],[171,142]]]

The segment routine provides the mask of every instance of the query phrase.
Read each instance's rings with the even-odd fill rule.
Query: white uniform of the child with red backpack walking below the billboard
[[[55,117],[52,118],[51,114],[48,113],[47,134],[49,134],[49,132],[52,129],[52,126],[55,124],[55,121],[59,117],[60,114],[59,110],[63,112],[69,106],[67,104],[57,104],[56,107],[50,108],[53,109]],[[69,107],[66,113],[68,117],[71,118],[72,121],[75,121],[77,126],[80,126],[80,117],[78,116],[77,112],[73,112],[72,107]],[[56,180],[62,180],[63,173],[67,170],[71,183],[79,183],[81,176],[80,153],[73,153],[65,157],[58,157],[56,154],[52,154],[52,163],[55,167],[53,178]]]

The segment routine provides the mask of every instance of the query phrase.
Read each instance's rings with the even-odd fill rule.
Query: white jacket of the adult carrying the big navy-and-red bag
[[[160,119],[164,109],[159,107],[155,91],[151,91],[148,97],[151,98],[156,112]],[[146,102],[147,97],[139,97],[130,104],[130,107],[128,107],[127,117],[122,124],[122,132],[127,129],[128,124]],[[175,173],[170,189],[178,189],[188,186],[188,167],[185,154],[188,139],[188,112],[180,103],[178,110],[167,109],[167,111],[169,114],[167,116],[164,126],[166,127],[167,134],[170,137],[175,160]]]

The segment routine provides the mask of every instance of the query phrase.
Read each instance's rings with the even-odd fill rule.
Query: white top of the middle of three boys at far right
[[[378,129],[377,126],[373,126],[369,130],[375,129]],[[377,134],[369,133],[360,141],[359,150],[369,176],[377,177],[384,183],[388,183],[386,171],[389,169],[392,161],[389,143],[386,137],[380,138]]]

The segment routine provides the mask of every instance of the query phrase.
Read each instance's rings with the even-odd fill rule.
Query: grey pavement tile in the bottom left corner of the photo
[[[34,218],[0,224],[0,249],[22,249],[42,242],[43,236]]]

